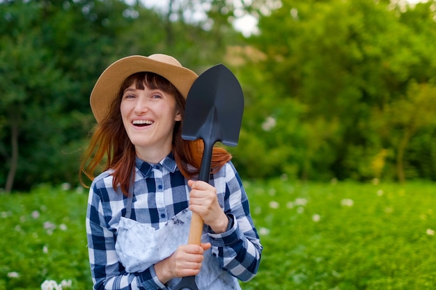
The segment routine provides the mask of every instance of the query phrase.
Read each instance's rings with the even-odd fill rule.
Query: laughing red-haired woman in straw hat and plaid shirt
[[[203,143],[181,137],[197,75],[171,56],[128,56],[91,92],[98,124],[81,172],[93,180],[86,232],[94,289],[240,289],[256,275],[262,246],[231,155],[215,148],[210,184],[196,180]],[[104,163],[103,172],[93,172]],[[187,245],[192,211],[205,222]],[[202,266],[203,265],[203,266]]]

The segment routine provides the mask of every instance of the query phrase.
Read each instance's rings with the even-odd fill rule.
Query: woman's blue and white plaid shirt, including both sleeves
[[[151,165],[137,158],[131,217],[159,229],[189,207],[187,179],[171,154]],[[94,289],[167,289],[157,279],[154,266],[141,273],[127,273],[118,261],[115,243],[118,223],[125,216],[127,198],[112,187],[111,170],[95,177],[91,184],[86,214],[89,260]],[[223,271],[248,281],[260,262],[259,237],[249,214],[249,202],[238,172],[231,162],[212,175],[221,208],[233,222],[228,231],[214,234],[208,228],[212,254]],[[207,226],[205,226],[207,227]]]

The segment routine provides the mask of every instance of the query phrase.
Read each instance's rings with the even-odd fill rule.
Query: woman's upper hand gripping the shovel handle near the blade
[[[217,189],[207,182],[193,180],[188,181],[192,188],[189,193],[189,209],[203,218],[216,234],[226,232],[228,218],[219,206]]]

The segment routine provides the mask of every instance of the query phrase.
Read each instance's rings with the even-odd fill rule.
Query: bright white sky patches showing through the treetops
[[[127,3],[134,2],[134,0],[126,0]],[[165,10],[168,6],[169,0],[141,0],[143,4],[148,8],[157,8],[158,10]],[[426,2],[427,0],[397,0],[397,1],[405,1],[410,4],[416,4],[419,2]],[[238,8],[238,3],[240,1],[233,0],[235,3],[235,7]],[[192,19],[202,19],[204,18],[204,15],[202,15],[201,11],[198,11],[197,13],[189,15],[189,18]],[[235,29],[240,31],[243,35],[249,36],[252,33],[256,33],[257,31],[257,19],[256,17],[252,15],[241,15],[237,19],[235,19],[235,22],[233,22],[233,26],[235,26]]]

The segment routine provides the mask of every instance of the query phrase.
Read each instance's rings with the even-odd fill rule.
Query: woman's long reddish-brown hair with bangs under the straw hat
[[[118,92],[118,97],[111,104],[107,118],[97,124],[92,131],[90,143],[82,156],[80,166],[79,177],[81,184],[84,186],[86,184],[83,182],[82,174],[93,180],[95,171],[100,169],[101,166],[103,171],[113,170],[111,175],[114,176],[112,181],[114,188],[120,186],[124,195],[127,195],[129,191],[136,152],[124,128],[120,104],[124,90],[133,83],[139,90],[143,90],[146,86],[152,90],[163,90],[176,98],[176,106],[182,114],[182,121],[178,121],[174,125],[172,152],[177,166],[185,178],[192,179],[198,175],[204,146],[202,140],[189,141],[182,139],[185,99],[180,95],[176,87],[164,77],[152,72],[137,72],[125,79]],[[224,148],[214,147],[211,164],[212,172],[217,172],[230,160],[231,154]]]

